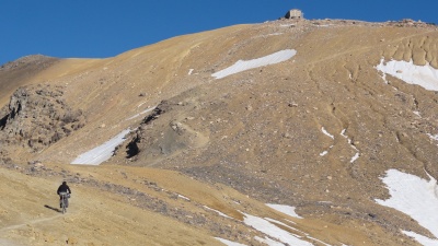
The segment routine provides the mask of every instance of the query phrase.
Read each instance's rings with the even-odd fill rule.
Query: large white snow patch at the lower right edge
[[[430,180],[427,181],[415,175],[389,169],[382,180],[388,186],[391,198],[384,201],[376,199],[376,201],[410,215],[438,237],[438,186],[434,177],[429,176],[429,178]],[[415,237],[423,245],[438,245],[437,239],[414,232],[404,233]]]

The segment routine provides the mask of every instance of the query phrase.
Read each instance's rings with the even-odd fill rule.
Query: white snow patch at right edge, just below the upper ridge
[[[412,60],[410,62],[391,60],[384,63],[384,59],[381,59],[376,69],[406,83],[417,84],[429,91],[438,91],[438,70],[430,65],[416,66]]]

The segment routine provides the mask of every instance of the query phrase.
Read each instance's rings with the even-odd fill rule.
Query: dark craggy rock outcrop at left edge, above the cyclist
[[[61,86],[18,89],[0,110],[0,149],[21,147],[38,152],[82,128],[82,112],[70,108],[62,95]]]

